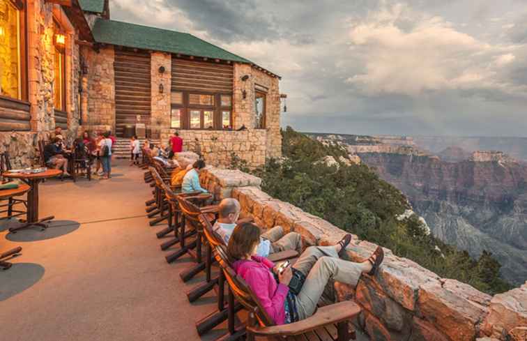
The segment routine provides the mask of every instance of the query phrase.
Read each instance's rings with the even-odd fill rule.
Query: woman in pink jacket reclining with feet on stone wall
[[[247,282],[263,309],[277,325],[310,317],[320,298],[334,301],[333,297],[325,297],[328,292],[326,286],[328,283],[333,285],[332,280],[356,287],[362,273],[375,275],[383,262],[381,247],[362,263],[340,259],[351,241],[351,234],[346,234],[337,245],[310,246],[300,255],[293,268],[289,266],[277,273],[279,271],[273,262],[256,255],[260,234],[261,230],[256,225],[240,224],[234,229],[227,250],[236,259],[234,271]],[[303,285],[294,285],[296,294],[289,288],[293,272],[300,273],[294,275],[296,282],[298,278],[303,280]]]

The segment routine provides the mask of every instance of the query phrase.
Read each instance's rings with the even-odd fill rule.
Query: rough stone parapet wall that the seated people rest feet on
[[[215,199],[234,197],[257,225],[298,232],[305,245],[333,245],[344,231],[260,189],[261,179],[240,171],[206,169],[201,181]],[[360,262],[376,248],[353,236],[349,258]],[[457,280],[440,278],[385,249],[376,276],[362,275],[356,288],[335,283],[339,300],[356,301],[356,324],[371,340],[527,340],[526,285],[494,297]]]

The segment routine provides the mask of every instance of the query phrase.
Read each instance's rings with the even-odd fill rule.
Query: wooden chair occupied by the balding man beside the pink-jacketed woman
[[[238,220],[238,224],[241,222],[250,221],[252,221],[252,218],[243,218]],[[203,335],[204,333],[210,331],[212,328],[215,328],[215,326],[217,326],[218,324],[221,324],[223,321],[225,321],[229,317],[229,312],[227,311],[227,307],[224,303],[225,278],[222,271],[220,271],[220,274],[217,277],[212,278],[212,265],[214,262],[217,262],[217,257],[213,257],[213,250],[215,250],[218,245],[224,245],[224,241],[213,230],[213,225],[209,215],[200,214],[199,222],[201,222],[201,225],[203,225],[203,232],[207,241],[205,256],[206,281],[189,291],[187,296],[189,301],[192,302],[197,298],[201,297],[202,295],[206,294],[206,292],[213,289],[215,285],[217,285],[218,288],[217,311],[212,312],[210,315],[207,315],[203,319],[200,319],[196,322],[196,329],[198,334]],[[296,252],[295,250],[287,250],[277,252],[268,258],[273,262],[280,262],[282,260],[292,259],[295,257],[298,257],[298,252]],[[239,303],[237,305],[235,304],[234,307],[236,307],[234,308],[234,310],[237,309],[236,311],[242,308]],[[231,312],[230,316],[234,318],[234,312]],[[234,326],[234,321],[232,321],[231,324]],[[232,333],[236,333],[236,331],[233,330]]]

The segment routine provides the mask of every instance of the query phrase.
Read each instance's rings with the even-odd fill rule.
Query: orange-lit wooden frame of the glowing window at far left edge
[[[15,102],[27,104],[29,100],[29,82],[28,82],[28,31],[27,31],[27,6],[26,0],[5,0],[10,3],[18,12],[18,93],[17,98],[1,94],[3,100],[13,100]]]

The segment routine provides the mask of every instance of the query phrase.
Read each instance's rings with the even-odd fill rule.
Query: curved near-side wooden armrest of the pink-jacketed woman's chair
[[[314,315],[307,317],[292,324],[282,324],[280,326],[247,326],[247,331],[259,336],[289,336],[300,335],[308,331],[327,326],[328,324],[337,324],[342,321],[349,321],[358,316],[360,307],[352,301],[342,301],[316,310]]]

